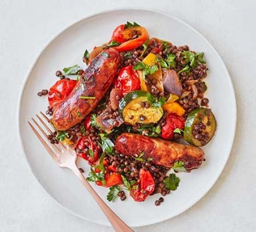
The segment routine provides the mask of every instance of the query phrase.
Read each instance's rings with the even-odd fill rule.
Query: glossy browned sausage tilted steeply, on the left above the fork
[[[113,48],[93,59],[70,95],[55,107],[51,122],[57,130],[67,130],[81,122],[98,105],[114,80],[119,62],[119,52]]]

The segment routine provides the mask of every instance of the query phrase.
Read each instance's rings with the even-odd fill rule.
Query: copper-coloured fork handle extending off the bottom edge
[[[132,232],[129,226],[127,226],[112,210],[111,208],[101,199],[101,197],[96,193],[96,191],[92,188],[91,184],[86,180],[86,178],[81,174],[77,167],[73,168],[72,171],[78,177],[78,179],[82,182],[84,187],[90,192],[93,196],[97,204],[100,206],[101,210],[105,214],[105,216],[109,219],[110,223],[112,224],[115,231],[125,231],[125,232]]]

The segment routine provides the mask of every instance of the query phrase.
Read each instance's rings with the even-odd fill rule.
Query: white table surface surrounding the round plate
[[[256,230],[255,1],[0,0],[0,231],[113,231],[63,210],[32,176],[17,141],[17,98],[33,60],[62,28],[102,10],[145,6],[183,19],[214,45],[236,91],[238,124],[228,163],[206,196],[136,231]]]

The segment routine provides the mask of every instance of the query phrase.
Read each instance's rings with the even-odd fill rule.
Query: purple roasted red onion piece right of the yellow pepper
[[[181,95],[182,85],[174,70],[163,68],[163,87],[170,94]]]

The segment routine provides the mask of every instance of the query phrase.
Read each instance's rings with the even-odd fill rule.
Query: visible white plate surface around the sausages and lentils
[[[233,143],[236,100],[232,83],[221,57],[196,30],[177,18],[146,10],[109,11],[76,22],[51,40],[32,65],[20,94],[18,127],[29,167],[42,187],[78,217],[110,225],[75,175],[54,164],[28,127],[27,120],[47,108],[47,98],[39,98],[36,94],[57,80],[56,70],[73,64],[83,65],[84,50],[91,51],[95,45],[109,41],[114,28],[127,20],[143,25],[151,37],[169,40],[176,45],[188,44],[191,50],[205,53],[209,67],[207,97],[218,121],[215,137],[203,148],[206,161],[202,167],[189,174],[178,174],[181,179],[178,190],[166,196],[161,206],[154,205],[159,195],[148,197],[142,203],[134,202],[131,197],[124,202],[107,202],[127,224],[142,226],[175,217],[199,201],[219,177]],[[85,162],[81,163],[88,170]],[[95,188],[106,199],[108,190]]]

